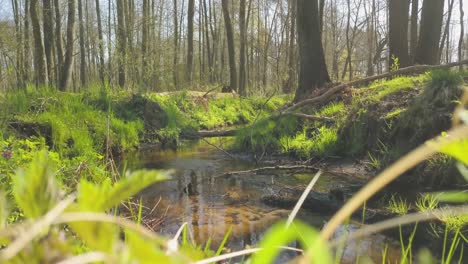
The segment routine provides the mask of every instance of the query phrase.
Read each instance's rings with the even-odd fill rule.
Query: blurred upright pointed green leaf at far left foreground
[[[51,163],[47,151],[39,152],[28,170],[19,170],[13,177],[13,196],[27,218],[41,217],[60,200]]]

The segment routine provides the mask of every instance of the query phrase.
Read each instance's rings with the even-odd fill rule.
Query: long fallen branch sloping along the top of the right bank
[[[286,109],[284,109],[282,111],[282,114],[288,114],[288,113],[290,113],[290,112],[292,112],[294,110],[297,110],[297,109],[301,108],[304,105],[324,103],[328,99],[330,99],[334,94],[336,94],[338,92],[341,92],[342,90],[344,90],[344,89],[346,89],[346,88],[348,88],[350,86],[360,86],[360,85],[363,85],[363,84],[366,84],[366,83],[369,83],[369,82],[373,82],[373,81],[381,80],[381,79],[386,79],[386,78],[391,78],[391,77],[395,77],[395,76],[398,76],[398,75],[418,74],[418,73],[423,73],[423,72],[426,72],[426,71],[429,71],[429,70],[448,69],[448,68],[457,67],[457,66],[466,65],[466,64],[468,64],[468,60],[462,60],[460,62],[452,62],[452,63],[448,63],[448,64],[443,64],[443,65],[415,65],[415,66],[410,66],[410,67],[406,67],[406,68],[401,68],[401,69],[396,70],[396,71],[391,71],[391,72],[387,72],[387,73],[384,73],[384,74],[367,77],[367,78],[364,78],[364,79],[350,81],[350,82],[343,83],[343,84],[337,85],[335,87],[332,87],[329,90],[327,90],[325,93],[323,93],[323,94],[321,94],[319,96],[297,102],[297,103],[287,107]]]

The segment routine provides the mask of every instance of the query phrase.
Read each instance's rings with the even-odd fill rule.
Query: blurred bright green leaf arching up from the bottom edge
[[[274,225],[259,245],[262,250],[253,255],[252,263],[273,263],[280,252],[278,247],[285,246],[294,240],[301,242],[305,257],[312,263],[332,263],[326,242],[321,240],[317,231],[301,222],[294,222],[290,228],[286,228],[284,222]]]

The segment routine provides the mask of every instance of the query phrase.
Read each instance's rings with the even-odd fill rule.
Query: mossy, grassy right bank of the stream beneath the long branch
[[[311,122],[291,116],[261,120],[237,135],[236,146],[241,150],[287,154],[303,160],[365,159],[373,169],[379,170],[450,128],[466,74],[434,71],[351,88],[339,101],[304,112],[331,117],[335,122]],[[422,172],[429,168],[433,175],[426,177]],[[454,183],[458,176],[452,168],[451,159],[439,155],[418,167],[420,176],[410,178],[428,185],[441,180]]]

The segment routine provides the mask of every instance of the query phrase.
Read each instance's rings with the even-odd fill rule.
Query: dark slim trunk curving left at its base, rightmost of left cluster
[[[73,71],[73,40],[75,35],[75,0],[68,0],[68,21],[67,21],[67,45],[65,51],[65,60],[60,74],[59,89],[68,90]]]

